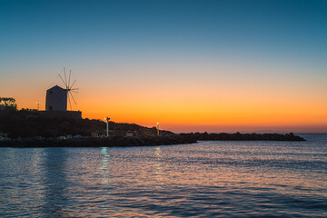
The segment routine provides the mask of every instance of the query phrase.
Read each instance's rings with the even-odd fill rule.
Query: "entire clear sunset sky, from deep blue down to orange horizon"
[[[327,1],[0,0],[0,96],[174,132],[327,132]]]

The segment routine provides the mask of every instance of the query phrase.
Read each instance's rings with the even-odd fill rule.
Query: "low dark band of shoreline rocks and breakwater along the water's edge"
[[[0,147],[126,147],[194,144],[197,141],[305,141],[294,134],[171,134],[157,137],[18,138],[0,141]]]

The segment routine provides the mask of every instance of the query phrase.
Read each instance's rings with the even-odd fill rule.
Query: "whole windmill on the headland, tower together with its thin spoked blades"
[[[78,88],[74,88],[74,84],[71,83],[71,74],[72,71],[69,71],[69,76],[67,80],[67,76],[64,69],[64,79],[59,75],[61,81],[64,83],[64,88],[54,85],[54,87],[46,90],[45,97],[45,111],[67,111],[67,103],[70,106],[70,110],[72,111],[72,101],[76,104],[74,100],[74,94],[77,93]]]

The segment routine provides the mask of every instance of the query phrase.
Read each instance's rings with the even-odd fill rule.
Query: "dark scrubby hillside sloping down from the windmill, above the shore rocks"
[[[92,133],[106,133],[106,123],[101,120],[70,119],[67,117],[46,116],[31,110],[0,111],[0,132],[8,134],[10,138],[17,137],[57,137],[67,134],[91,136]],[[133,132],[137,136],[155,136],[156,128],[148,128],[138,124],[118,124],[109,122],[110,134],[124,136]],[[161,135],[173,134],[160,131]]]

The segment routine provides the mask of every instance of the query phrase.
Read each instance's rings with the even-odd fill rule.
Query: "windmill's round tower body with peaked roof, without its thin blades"
[[[67,91],[58,85],[46,90],[45,111],[67,111]]]

